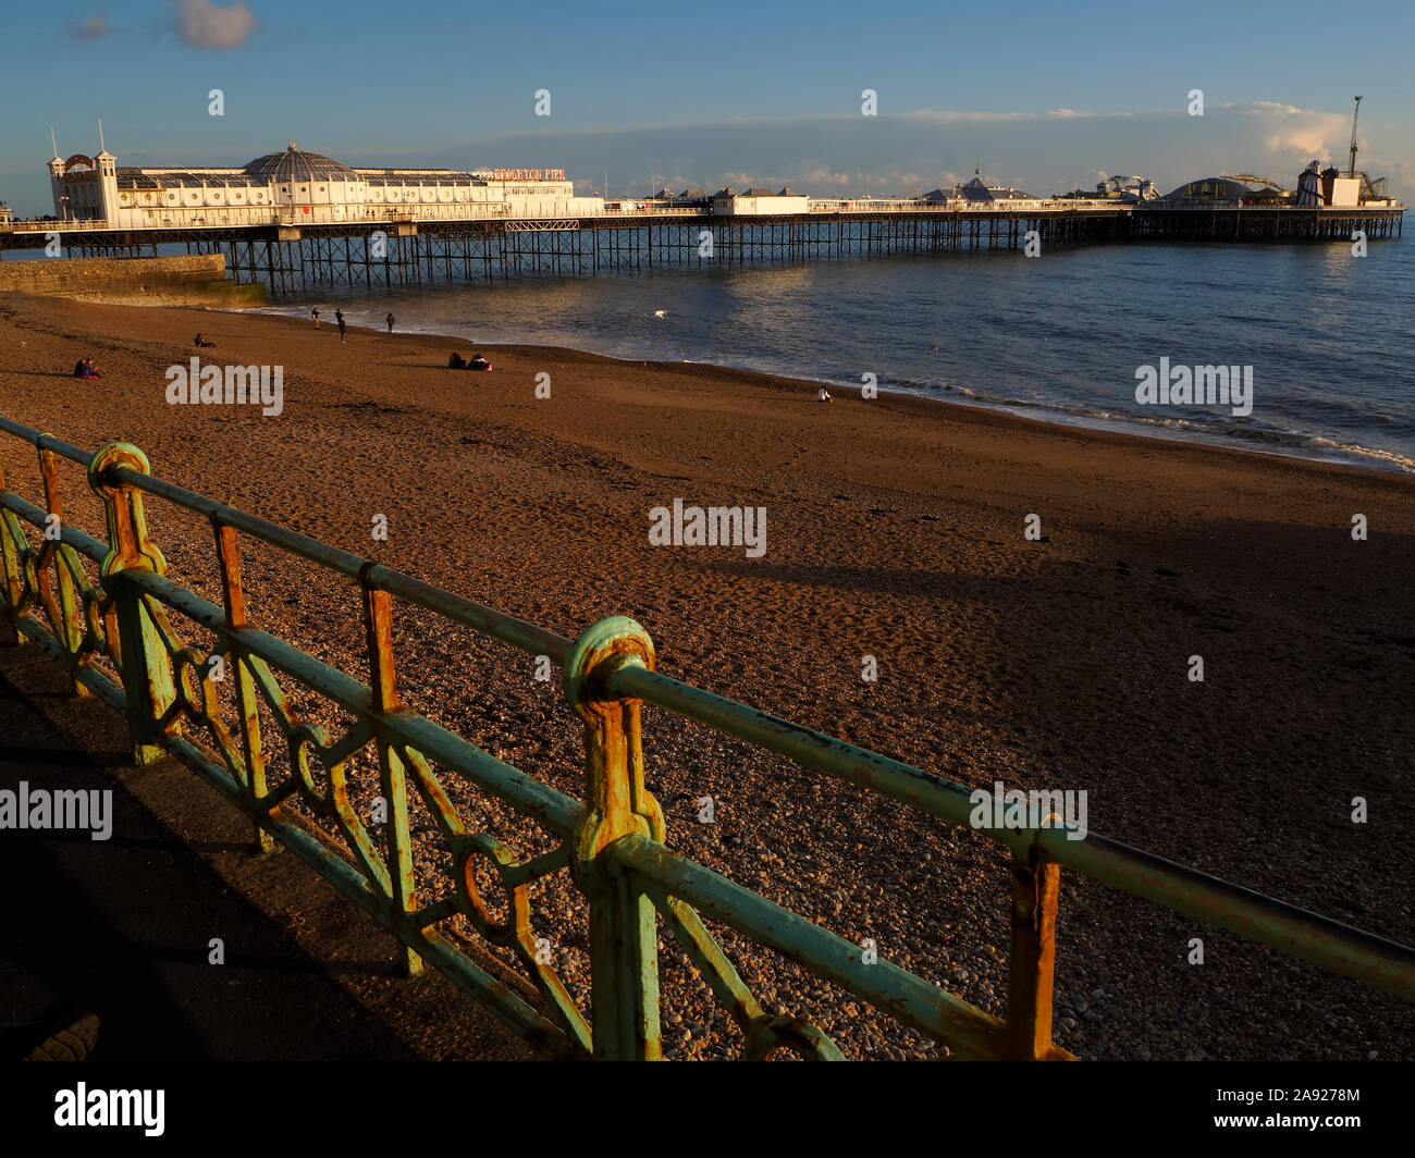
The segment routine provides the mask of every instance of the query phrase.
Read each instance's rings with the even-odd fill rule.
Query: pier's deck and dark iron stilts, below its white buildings
[[[850,207],[846,207],[850,205]],[[566,218],[484,217],[181,228],[105,222],[16,222],[0,251],[52,249],[83,258],[156,256],[160,249],[221,253],[241,283],[272,294],[314,287],[372,289],[563,276],[671,266],[747,266],[862,259],[889,253],[1024,249],[1119,242],[1332,242],[1399,238],[1404,207],[1266,207],[1163,201],[1034,201],[955,208],[891,202],[812,202],[807,212],[724,215],[703,210],[623,211]]]

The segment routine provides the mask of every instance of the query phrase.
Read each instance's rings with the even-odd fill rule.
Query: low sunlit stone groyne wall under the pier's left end
[[[259,306],[265,286],[226,280],[219,255],[183,258],[47,258],[0,262],[0,292],[16,290],[129,306]]]

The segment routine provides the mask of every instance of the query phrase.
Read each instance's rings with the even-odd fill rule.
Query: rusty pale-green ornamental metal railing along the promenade
[[[45,498],[40,508],[10,493],[0,473],[0,612],[8,613],[17,637],[62,663],[76,689],[127,716],[134,760],[184,762],[252,818],[262,848],[284,845],[392,930],[408,971],[430,961],[552,1056],[661,1056],[659,920],[741,1029],[747,1057],[777,1050],[842,1056],[807,1021],[761,1008],[709,933],[706,916],[941,1042],[952,1056],[1070,1059],[1051,1042],[1061,866],[1415,1001],[1409,947],[1094,832],[1071,839],[1057,822],[979,830],[1012,854],[1007,1018],[998,1019],[883,958],[866,960],[860,946],[672,852],[662,810],[644,783],[640,715],[644,704],[655,705],[959,825],[969,825],[976,807],[972,790],[662,675],[654,670],[652,641],[631,619],[604,619],[569,640],[156,478],[143,452],[127,443],[89,454],[4,418],[0,432],[37,449]],[[86,469],[103,501],[105,539],[64,521],[59,459]],[[209,521],[222,606],[167,578],[149,534],[146,495]],[[23,524],[35,528],[35,542]],[[248,620],[241,535],[352,580],[362,600],[368,684]],[[96,580],[85,571],[85,558],[98,565]],[[584,725],[583,801],[400,704],[393,597],[548,655],[562,668],[567,702]],[[208,629],[218,640],[214,651],[202,654],[180,638],[168,610]],[[222,711],[211,655],[222,657],[232,681],[233,712]],[[279,677],[340,705],[352,726],[330,738],[317,723],[301,721]],[[262,719],[273,722],[275,742],[284,746],[283,774],[267,774],[272,728],[262,728]],[[379,791],[388,806],[382,832],[371,831],[350,800],[345,764],[369,746],[376,749]],[[317,783],[311,760],[325,770],[325,787]],[[556,841],[552,851],[518,862],[494,835],[471,831],[443,787],[441,777],[449,776],[542,827]],[[451,883],[415,873],[409,793],[436,821],[441,848],[451,855]],[[296,801],[327,825],[304,822],[293,807],[282,807]],[[491,915],[475,883],[480,862],[505,892],[504,919]],[[531,933],[529,888],[562,871],[589,906],[593,1025],[545,954],[538,954]],[[507,984],[474,960],[463,939],[440,929],[458,915],[488,944],[509,950],[531,984]]]

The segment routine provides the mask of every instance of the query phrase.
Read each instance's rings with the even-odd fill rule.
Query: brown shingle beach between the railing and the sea
[[[216,344],[204,358],[283,365],[279,418],[166,402],[197,330]],[[492,374],[444,368],[478,348]],[[7,297],[0,351],[7,418],[134,442],[164,478],[562,634],[630,614],[675,677],[964,784],[1084,789],[1092,831],[1415,941],[1407,477],[923,399],[818,405],[812,384],[705,367],[358,330],[341,344],[330,324],[266,316]],[[68,377],[81,354],[102,379]],[[35,497],[33,452],[0,437],[0,464]],[[65,477],[71,520],[102,532]],[[651,546],[649,510],[674,498],[764,507],[764,556]],[[157,504],[149,520],[174,575],[212,597],[209,529]],[[347,585],[260,551],[246,573],[258,624],[364,677]],[[409,702],[582,794],[576,729],[529,657],[424,620],[399,621]],[[1003,1012],[1006,864],[988,842],[664,712],[647,713],[645,749],[671,845]],[[713,825],[696,818],[705,794]],[[1415,1057],[1411,1007],[1064,881],[1067,1049]],[[1191,937],[1203,965],[1186,963]],[[570,934],[565,951],[582,954]],[[672,957],[665,994],[686,994]],[[749,953],[743,974],[852,1055],[935,1056],[788,963]],[[682,1002],[665,997],[665,1015],[683,1011],[669,1052],[715,1056],[730,1031],[700,994]]]

